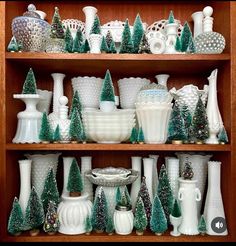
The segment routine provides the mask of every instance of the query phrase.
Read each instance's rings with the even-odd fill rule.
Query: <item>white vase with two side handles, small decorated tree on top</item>
[[[197,180],[180,178],[179,182],[178,199],[183,217],[179,232],[185,235],[198,235],[197,202],[201,200],[201,193],[196,187]]]

